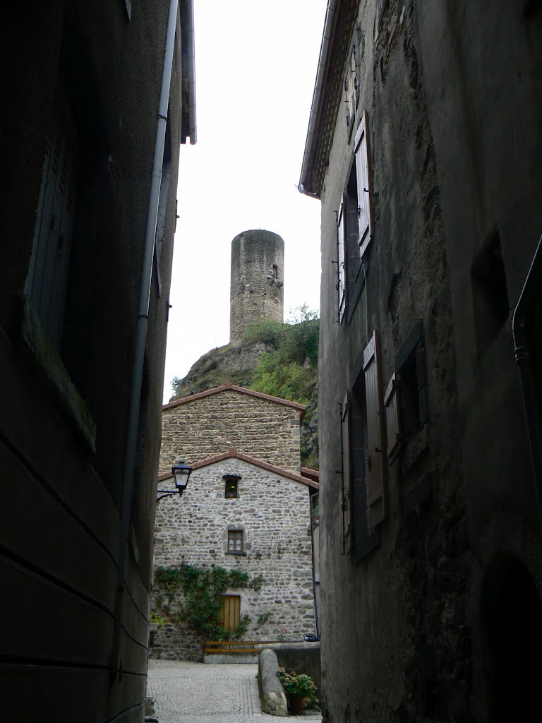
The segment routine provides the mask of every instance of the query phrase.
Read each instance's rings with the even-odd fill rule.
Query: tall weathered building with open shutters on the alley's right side
[[[300,190],[322,203],[330,723],[538,709],[540,252],[512,316],[542,228],[541,31],[533,2],[328,3]]]

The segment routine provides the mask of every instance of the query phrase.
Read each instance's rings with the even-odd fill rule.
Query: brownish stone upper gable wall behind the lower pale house
[[[196,462],[231,447],[299,473],[299,416],[294,407],[231,389],[165,408],[160,474],[178,459]]]

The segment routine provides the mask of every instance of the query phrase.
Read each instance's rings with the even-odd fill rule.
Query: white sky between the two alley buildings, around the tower
[[[284,311],[319,308],[320,204],[296,188],[326,0],[194,0],[197,144],[181,146],[164,401],[229,341],[231,241],[284,239]]]

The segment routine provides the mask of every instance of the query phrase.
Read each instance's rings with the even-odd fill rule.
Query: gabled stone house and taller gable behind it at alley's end
[[[193,471],[180,499],[158,505],[155,566],[189,562],[262,576],[260,589],[226,595],[229,628],[250,617],[244,639],[301,640],[314,632],[310,495],[318,483],[317,473],[300,468],[303,412],[296,402],[235,385],[163,408],[158,489],[173,486],[179,457]],[[160,628],[152,655],[201,659],[203,642],[183,623]]]

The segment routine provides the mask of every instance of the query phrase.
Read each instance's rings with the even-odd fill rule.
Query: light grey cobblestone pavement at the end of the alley
[[[278,722],[276,716],[262,713],[257,672],[253,664],[150,660],[147,696],[155,700],[154,717],[160,723]],[[289,719],[320,723],[322,716],[307,711]]]

